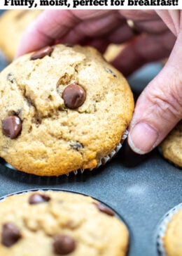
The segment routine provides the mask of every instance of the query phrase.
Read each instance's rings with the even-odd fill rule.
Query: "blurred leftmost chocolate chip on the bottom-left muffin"
[[[1,233],[1,243],[6,247],[14,245],[22,237],[20,230],[12,222],[3,224]]]

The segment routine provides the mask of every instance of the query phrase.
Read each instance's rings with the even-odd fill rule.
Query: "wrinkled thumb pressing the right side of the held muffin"
[[[130,124],[128,143],[139,154],[150,152],[182,118],[182,32],[162,71],[144,89]]]

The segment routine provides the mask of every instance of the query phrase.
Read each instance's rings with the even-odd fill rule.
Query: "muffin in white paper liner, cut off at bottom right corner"
[[[182,204],[167,212],[158,231],[158,250],[162,256],[182,255]]]

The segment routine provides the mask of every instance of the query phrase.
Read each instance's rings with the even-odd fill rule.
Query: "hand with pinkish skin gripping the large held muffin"
[[[133,21],[135,31],[127,20]],[[17,56],[57,42],[90,44],[102,52],[109,43],[125,43],[112,63],[125,76],[145,63],[169,57],[139,96],[130,123],[128,143],[134,152],[145,154],[182,118],[181,20],[179,10],[43,11],[22,37]]]

